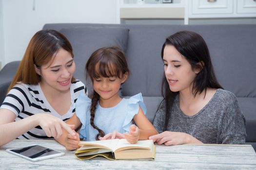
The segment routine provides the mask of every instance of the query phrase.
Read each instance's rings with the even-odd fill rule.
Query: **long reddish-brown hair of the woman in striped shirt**
[[[7,93],[17,82],[37,85],[41,80],[41,76],[36,73],[35,66],[40,68],[53,61],[53,57],[60,48],[68,51],[74,58],[72,46],[63,34],[55,30],[37,32],[28,44]],[[71,82],[74,81],[75,78],[72,77]]]

